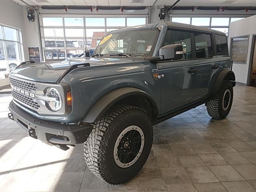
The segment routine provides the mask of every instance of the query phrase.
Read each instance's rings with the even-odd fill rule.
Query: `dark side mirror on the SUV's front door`
[[[182,44],[165,45],[159,49],[159,56],[163,59],[180,60],[183,57]]]

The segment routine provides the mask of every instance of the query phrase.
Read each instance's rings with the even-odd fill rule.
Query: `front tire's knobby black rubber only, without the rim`
[[[114,145],[128,126],[139,126],[144,133],[144,147],[138,160],[121,168],[114,160]],[[84,158],[88,168],[109,184],[121,184],[133,178],[145,164],[151,150],[153,129],[149,116],[134,106],[115,106],[98,120],[84,143]]]

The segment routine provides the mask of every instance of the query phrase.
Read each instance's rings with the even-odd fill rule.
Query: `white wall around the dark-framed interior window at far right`
[[[247,84],[250,55],[252,50],[253,34],[256,34],[256,15],[230,23],[228,44],[230,47],[231,38],[249,35],[249,46],[246,64],[233,63],[232,70],[236,75],[236,81]]]

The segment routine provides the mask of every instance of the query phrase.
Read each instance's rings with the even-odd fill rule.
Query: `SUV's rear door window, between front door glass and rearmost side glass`
[[[196,58],[212,57],[212,41],[210,34],[194,33],[196,43]]]

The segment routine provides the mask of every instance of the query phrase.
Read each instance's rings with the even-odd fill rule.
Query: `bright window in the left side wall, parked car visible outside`
[[[0,25],[0,78],[23,60],[22,38],[18,29]]]

